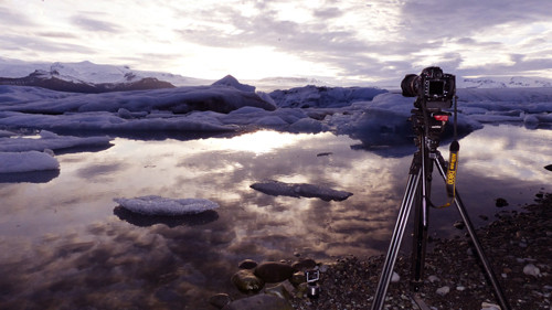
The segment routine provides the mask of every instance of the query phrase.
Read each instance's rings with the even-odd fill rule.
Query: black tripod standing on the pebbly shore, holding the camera
[[[406,191],[401,203],[401,209],[399,211],[399,217],[395,223],[393,235],[391,238],[391,244],[389,246],[388,254],[383,264],[383,270],[380,276],[378,284],[378,289],[375,291],[374,300],[372,303],[372,310],[380,310],[385,301],[385,295],[388,292],[389,284],[395,266],[395,261],[399,255],[399,249],[404,235],[404,229],[406,223],[408,222],[408,216],[413,204],[415,203],[415,214],[414,214],[414,238],[413,238],[413,249],[412,249],[412,290],[417,293],[423,284],[424,274],[424,260],[425,260],[425,249],[427,243],[427,229],[428,223],[428,207],[432,206],[431,203],[431,183],[432,183],[432,172],[433,167],[437,167],[438,172],[446,181],[446,169],[447,164],[443,159],[443,156],[437,150],[439,143],[439,135],[444,130],[446,120],[439,116],[448,115],[446,113],[434,113],[429,115],[425,109],[414,109],[411,121],[413,122],[413,128],[416,133],[416,146],[418,150],[414,153],[412,164],[408,173],[408,181],[406,183]],[[456,130],[455,130],[456,131]],[[502,310],[510,310],[510,306],[505,298],[500,284],[490,267],[487,257],[479,244],[477,235],[474,229],[466,209],[455,191],[453,196],[454,203],[456,204],[458,212],[460,213],[461,220],[468,231],[471,238],[474,247],[477,252],[479,260],[488,276],[488,280],[491,282],[497,300],[500,303]],[[421,309],[428,309],[423,301],[415,295],[414,300]]]

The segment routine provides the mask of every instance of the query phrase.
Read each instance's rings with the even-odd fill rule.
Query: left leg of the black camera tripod
[[[401,203],[401,209],[399,211],[399,217],[396,218],[395,228],[393,229],[391,244],[389,245],[388,254],[385,255],[380,281],[378,282],[378,289],[375,290],[374,300],[372,302],[372,310],[380,310],[383,308],[385,295],[388,293],[389,284],[391,281],[391,276],[393,275],[393,268],[395,267],[396,257],[399,255],[399,249],[403,239],[404,229],[406,228],[406,224],[408,223],[410,212],[421,178],[422,171],[420,169],[416,174],[412,174],[412,172],[411,174],[408,174],[406,191]]]

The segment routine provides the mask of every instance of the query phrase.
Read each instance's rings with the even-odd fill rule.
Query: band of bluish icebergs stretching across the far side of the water
[[[552,87],[458,88],[460,136],[484,124],[552,127]],[[209,86],[72,94],[0,86],[0,129],[150,135],[219,135],[273,129],[348,135],[364,147],[412,145],[414,98],[370,87],[305,86],[269,94],[232,76]],[[450,122],[444,139],[452,136]],[[7,137],[9,132],[0,132]],[[6,147],[8,148],[8,147]],[[36,150],[41,150],[35,148]]]

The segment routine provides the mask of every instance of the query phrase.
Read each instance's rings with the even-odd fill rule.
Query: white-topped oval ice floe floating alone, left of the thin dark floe
[[[114,199],[128,211],[144,215],[178,216],[198,214],[217,209],[219,204],[205,199],[167,199],[157,195],[135,199]]]

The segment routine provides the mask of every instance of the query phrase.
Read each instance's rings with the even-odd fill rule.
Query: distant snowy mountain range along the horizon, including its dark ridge
[[[230,76],[231,77],[231,76]],[[221,82],[233,85],[235,78],[225,77]],[[210,85],[214,79],[201,79],[163,72],[137,71],[121,65],[102,65],[92,62],[78,63],[32,63],[0,57],[0,85],[29,85],[55,90],[79,93],[104,93],[115,90],[151,89],[179,86]],[[400,88],[400,81],[343,82],[331,77],[267,77],[244,79],[256,89],[266,93],[275,89],[290,89],[315,85],[318,87],[362,86],[384,89]],[[508,88],[508,87],[552,87],[552,79],[542,77],[477,77],[457,76],[458,88]],[[247,85],[247,86],[250,86]],[[250,86],[253,87],[253,86]]]

